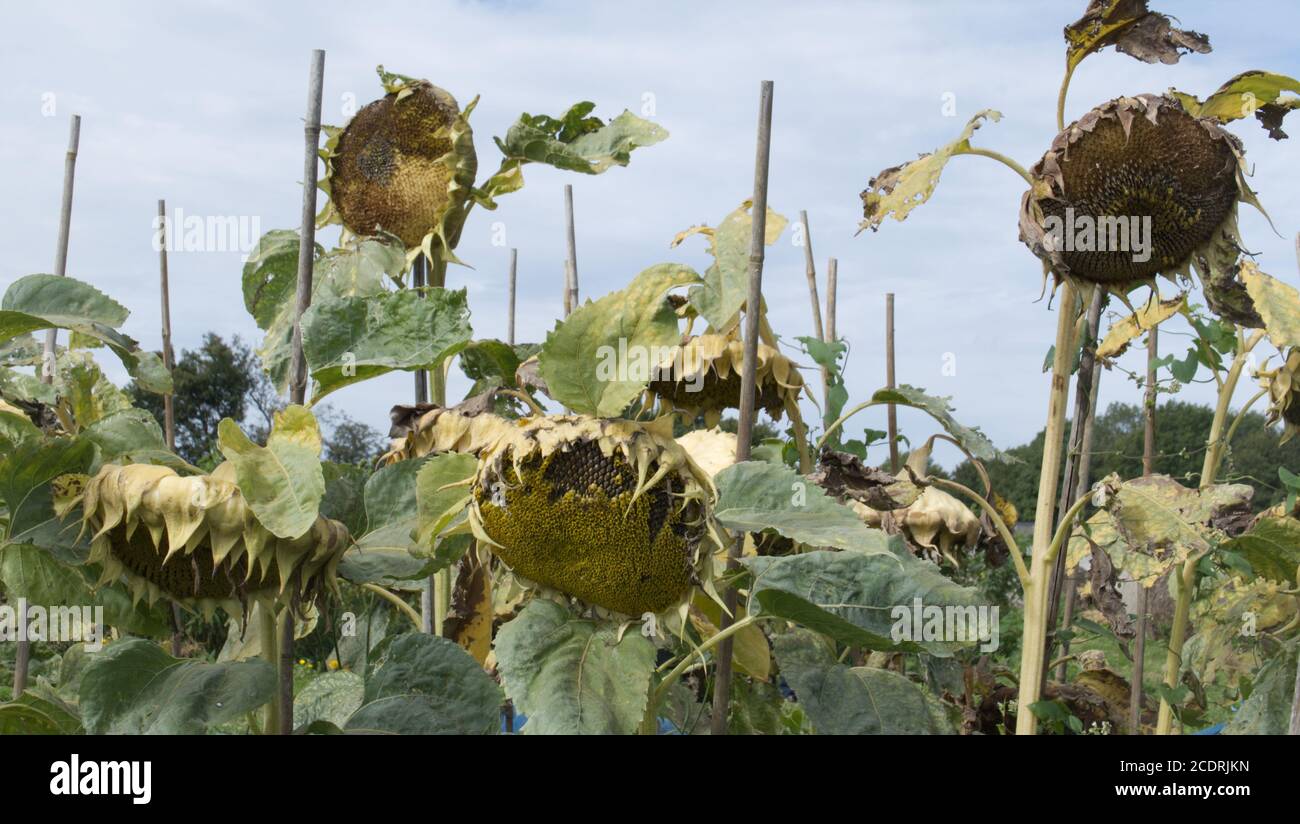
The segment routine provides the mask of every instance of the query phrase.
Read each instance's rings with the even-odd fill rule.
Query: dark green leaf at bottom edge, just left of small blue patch
[[[489,734],[500,724],[500,688],[458,643],[424,633],[398,636],[365,682],[365,703],[348,730]]]

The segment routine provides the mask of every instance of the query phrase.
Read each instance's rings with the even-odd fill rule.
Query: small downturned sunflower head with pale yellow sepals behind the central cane
[[[647,400],[658,400],[662,411],[705,416],[715,426],[725,409],[740,408],[741,369],[745,344],[734,334],[692,335],[675,346],[656,364],[647,389]],[[759,342],[754,368],[755,408],[774,420],[798,404],[803,376],[798,367],[776,348]]]

